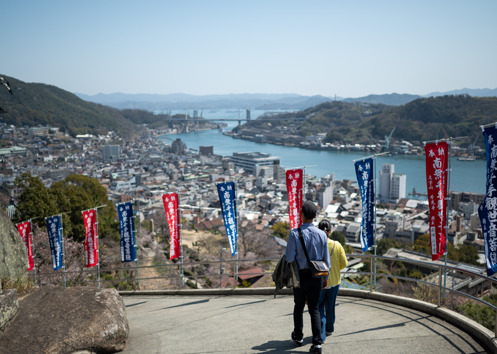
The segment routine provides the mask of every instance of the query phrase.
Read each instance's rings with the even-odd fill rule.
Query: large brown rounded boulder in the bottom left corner
[[[115,289],[47,285],[19,300],[0,352],[115,353],[124,349],[128,334],[126,307]]]

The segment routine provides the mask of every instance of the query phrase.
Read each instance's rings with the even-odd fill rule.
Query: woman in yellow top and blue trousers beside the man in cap
[[[319,300],[318,308],[321,316],[321,341],[325,342],[326,336],[330,336],[334,331],[335,323],[335,301],[340,287],[340,270],[348,264],[347,257],[342,245],[338,241],[333,241],[330,238],[331,223],[323,219],[320,221],[318,228],[323,230],[328,236],[328,250],[330,251],[330,277],[328,287],[323,289]]]

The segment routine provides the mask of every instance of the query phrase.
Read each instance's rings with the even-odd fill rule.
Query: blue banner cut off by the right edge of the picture
[[[482,223],[487,276],[491,277],[497,271],[497,128],[485,128],[483,137],[487,151],[487,196],[480,204],[478,216]]]

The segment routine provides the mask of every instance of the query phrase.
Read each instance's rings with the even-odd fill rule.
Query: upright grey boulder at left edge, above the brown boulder
[[[0,278],[26,277],[27,269],[26,246],[15,225],[0,209]]]

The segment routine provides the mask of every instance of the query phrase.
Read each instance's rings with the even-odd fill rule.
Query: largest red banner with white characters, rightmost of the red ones
[[[445,226],[447,225],[447,142],[424,146],[426,153],[426,186],[430,206],[431,260],[445,254]]]

